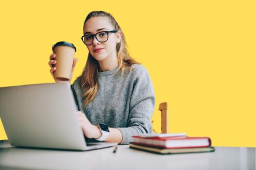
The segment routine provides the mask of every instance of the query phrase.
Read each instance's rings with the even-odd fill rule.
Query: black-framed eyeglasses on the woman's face
[[[109,39],[109,33],[116,33],[117,31],[116,30],[113,30],[113,31],[101,31],[101,32],[98,32],[96,34],[88,34],[88,35],[83,35],[81,37],[82,39],[82,42],[86,45],[91,45],[93,43],[93,37],[96,37],[96,39],[99,41],[99,42],[106,42],[108,41]]]

